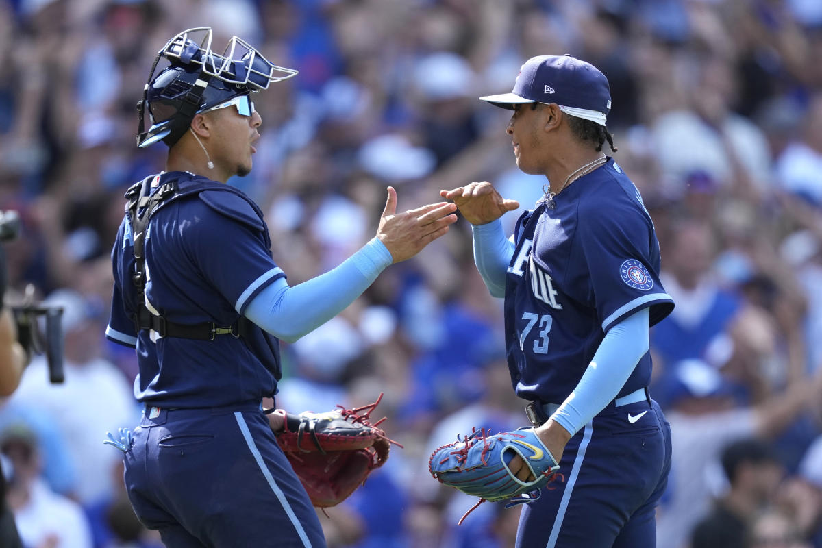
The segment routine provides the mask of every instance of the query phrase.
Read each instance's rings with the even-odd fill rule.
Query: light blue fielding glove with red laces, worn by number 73
[[[508,463],[515,454],[529,467],[533,481],[522,481],[510,471]],[[555,473],[559,467],[533,428],[495,435],[474,429],[464,440],[458,435],[454,443],[436,449],[428,459],[428,470],[442,484],[480,498],[460,524],[486,500],[511,500],[513,505],[538,499],[543,486],[561,477]]]

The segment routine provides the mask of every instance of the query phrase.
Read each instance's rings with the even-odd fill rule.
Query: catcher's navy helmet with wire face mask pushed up
[[[173,146],[188,131],[197,113],[230,106],[234,97],[266,90],[271,82],[286,80],[298,72],[269,62],[237,36],[229,40],[222,54],[214,53],[212,36],[210,27],[183,30],[159,50],[143,99],[137,103],[137,146],[143,148],[159,140]],[[169,66],[155,76],[160,59],[167,60]],[[250,99],[232,104],[243,115],[253,112]],[[148,131],[146,107],[151,122]]]

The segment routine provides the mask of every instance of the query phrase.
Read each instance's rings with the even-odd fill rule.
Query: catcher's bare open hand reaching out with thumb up
[[[449,202],[423,205],[416,210],[397,213],[397,191],[388,187],[386,208],[382,211],[376,237],[388,248],[395,263],[409,259],[423,247],[448,232],[457,220],[456,206]]]

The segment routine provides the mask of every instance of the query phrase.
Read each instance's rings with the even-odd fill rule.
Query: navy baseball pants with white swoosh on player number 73
[[[570,439],[560,467],[565,481],[524,504],[517,548],[656,546],[655,507],[671,468],[671,427],[656,402],[600,412]]]

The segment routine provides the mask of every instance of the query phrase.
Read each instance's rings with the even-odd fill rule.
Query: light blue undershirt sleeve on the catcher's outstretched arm
[[[344,311],[393,262],[376,237],[335,269],[293,288],[284,278],[259,292],[245,315],[276,338],[293,343]]]

